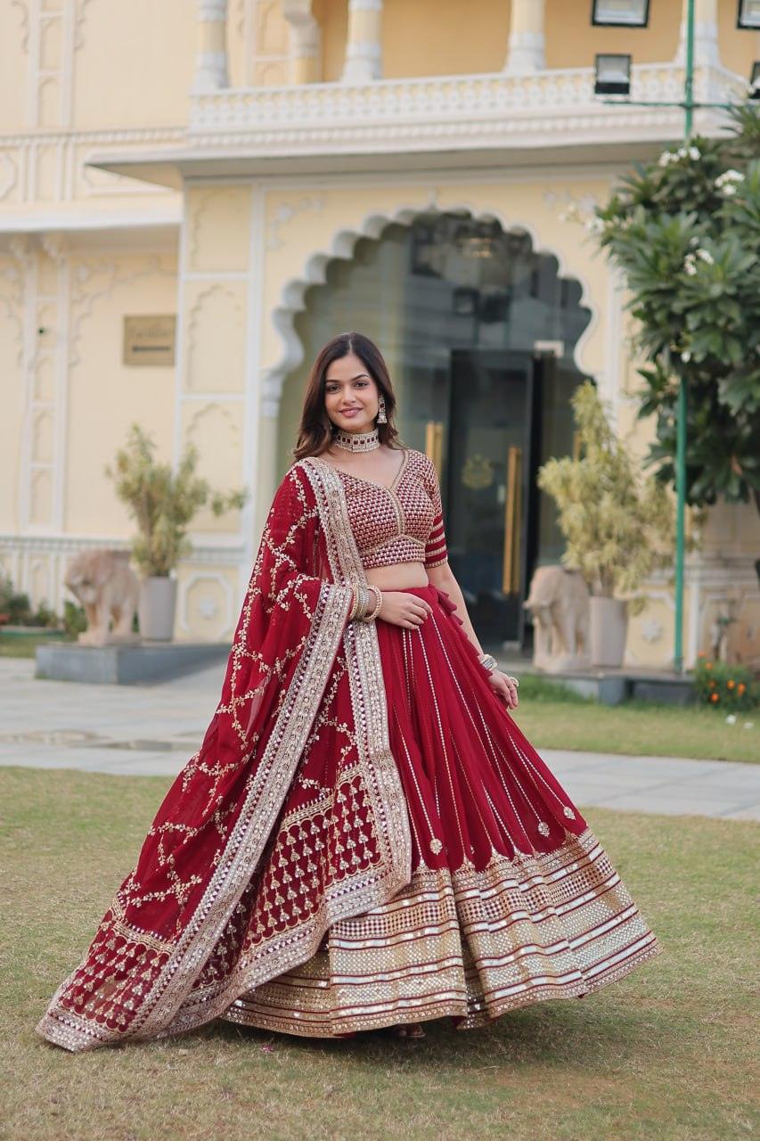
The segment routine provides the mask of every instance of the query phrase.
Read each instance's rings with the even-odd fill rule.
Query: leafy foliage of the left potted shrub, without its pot
[[[213,515],[241,508],[244,491],[221,494],[213,492],[205,479],[195,475],[197,450],[188,446],[177,471],[171,464],[157,463],[155,443],[139,424],[132,424],[126,447],[116,452],[114,467],[106,468],[116,495],[137,520],[138,533],[132,540],[132,559],[145,577],[165,576],[189,553],[187,528],[207,503]]]

